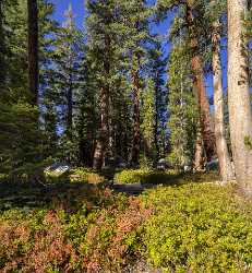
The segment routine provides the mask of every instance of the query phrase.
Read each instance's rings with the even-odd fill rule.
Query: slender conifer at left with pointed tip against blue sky
[[[77,94],[82,92],[83,35],[74,24],[74,15],[70,5],[65,11],[65,22],[57,29],[55,39],[51,79],[46,90],[46,96],[51,97],[55,105],[58,124],[62,131],[61,151],[64,159],[76,162]],[[52,105],[51,105],[52,106]],[[51,110],[49,108],[49,110]],[[51,116],[53,118],[53,115]]]

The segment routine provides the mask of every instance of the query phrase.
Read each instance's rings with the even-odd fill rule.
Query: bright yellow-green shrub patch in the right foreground
[[[251,203],[231,187],[184,185],[146,194],[155,215],[143,227],[145,257],[164,272],[250,272]]]

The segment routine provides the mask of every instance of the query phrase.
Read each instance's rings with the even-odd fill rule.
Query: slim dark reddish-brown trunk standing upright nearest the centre
[[[139,62],[139,60],[137,60]],[[140,132],[140,79],[139,70],[132,71],[132,83],[133,83],[133,143],[131,151],[131,163],[134,166],[139,165],[140,161],[140,143],[141,143],[141,132]]]

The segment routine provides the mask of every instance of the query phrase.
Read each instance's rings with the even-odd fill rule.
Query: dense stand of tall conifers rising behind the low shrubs
[[[201,170],[218,158],[233,178],[225,1],[86,1],[81,28],[71,4],[63,23],[53,12],[46,0],[1,3],[1,173],[55,161],[152,168],[161,158]],[[250,23],[247,12],[248,40]],[[240,139],[245,147],[250,132]]]

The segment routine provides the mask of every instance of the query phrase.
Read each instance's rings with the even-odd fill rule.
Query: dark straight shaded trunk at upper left
[[[28,86],[32,102],[38,100],[38,9],[37,0],[27,0],[28,10]]]

